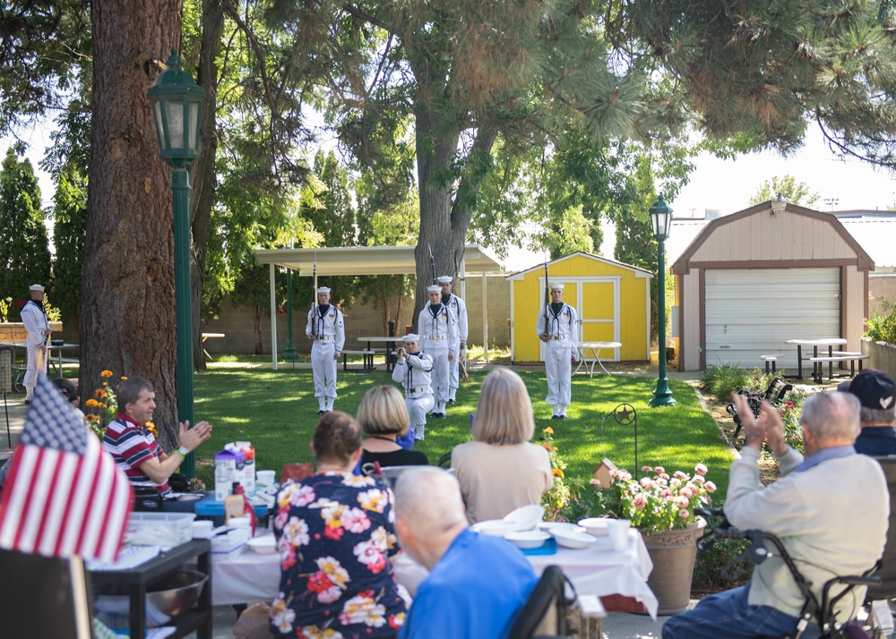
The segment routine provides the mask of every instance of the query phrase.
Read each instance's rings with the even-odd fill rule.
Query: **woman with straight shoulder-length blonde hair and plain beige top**
[[[529,441],[535,432],[532,401],[515,372],[488,373],[470,430],[473,441],[454,448],[451,465],[471,523],[538,504],[554,486],[547,450]]]

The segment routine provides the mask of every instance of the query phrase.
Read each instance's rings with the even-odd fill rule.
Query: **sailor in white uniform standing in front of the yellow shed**
[[[551,285],[551,303],[538,313],[536,332],[545,343],[545,372],[547,399],[554,409],[553,420],[566,419],[570,400],[570,380],[576,351],[578,318],[575,309],[563,301],[562,284]]]

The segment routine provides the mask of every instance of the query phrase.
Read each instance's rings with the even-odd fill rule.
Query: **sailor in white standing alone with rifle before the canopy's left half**
[[[314,371],[314,396],[323,415],[332,411],[336,401],[336,364],[342,346],[345,345],[345,326],[342,311],[330,303],[331,289],[321,286],[317,289],[317,309],[308,311],[308,326],[305,334],[311,345],[311,370]]]

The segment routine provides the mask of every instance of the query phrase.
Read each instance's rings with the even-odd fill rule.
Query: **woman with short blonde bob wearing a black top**
[[[426,453],[406,450],[399,441],[408,435],[410,416],[401,393],[392,386],[375,386],[358,405],[358,423],[366,434],[361,464],[420,466],[429,464]],[[413,444],[413,439],[410,441]]]

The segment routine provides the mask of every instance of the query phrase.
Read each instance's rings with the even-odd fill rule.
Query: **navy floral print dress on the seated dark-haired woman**
[[[389,558],[399,552],[392,490],[371,477],[319,473],[277,495],[280,593],[271,629],[308,639],[391,637],[408,592]]]

